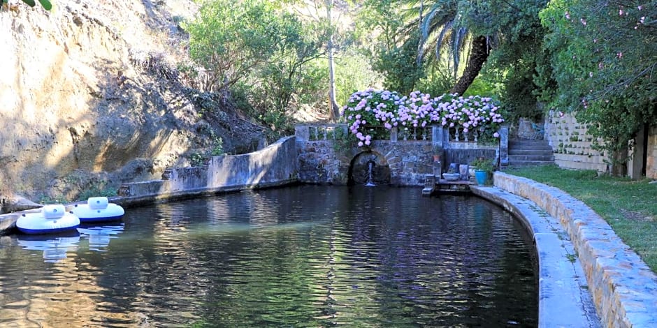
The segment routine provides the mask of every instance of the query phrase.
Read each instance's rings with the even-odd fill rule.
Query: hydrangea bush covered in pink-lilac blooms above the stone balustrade
[[[356,91],[343,107],[349,132],[358,139],[359,147],[384,137],[377,127],[386,131],[397,128],[426,128],[440,124],[452,135],[477,133],[479,141],[493,140],[500,135],[504,122],[498,104],[482,96],[463,97],[443,94],[431,97],[419,91],[400,96],[394,91],[367,89]]]

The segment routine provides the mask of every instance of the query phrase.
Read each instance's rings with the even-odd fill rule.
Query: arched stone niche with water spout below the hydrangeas
[[[371,179],[371,181],[370,181]],[[390,166],[385,156],[375,151],[363,151],[349,165],[349,184],[390,184]]]

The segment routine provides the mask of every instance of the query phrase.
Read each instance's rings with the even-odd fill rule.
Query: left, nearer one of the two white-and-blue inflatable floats
[[[16,228],[26,234],[55,234],[75,230],[80,218],[62,204],[45,205],[41,211],[25,213],[18,217]]]

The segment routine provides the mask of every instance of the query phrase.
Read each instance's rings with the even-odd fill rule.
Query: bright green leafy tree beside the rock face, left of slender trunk
[[[185,25],[190,55],[203,67],[208,91],[231,89],[275,131],[291,131],[289,105],[308,81],[308,63],[322,56],[326,29],[303,22],[276,1],[205,1]]]

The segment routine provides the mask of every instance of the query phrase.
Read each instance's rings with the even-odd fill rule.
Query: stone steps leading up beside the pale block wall
[[[554,164],[554,153],[547,140],[509,140],[509,166]]]

